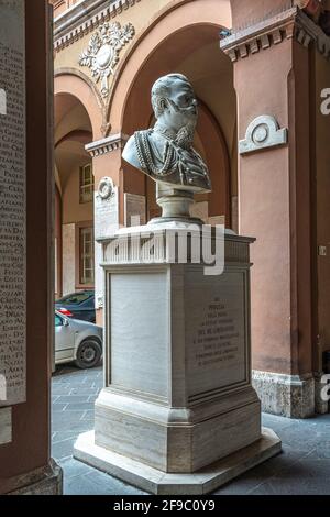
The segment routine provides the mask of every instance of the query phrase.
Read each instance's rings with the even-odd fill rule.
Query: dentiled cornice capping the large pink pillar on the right
[[[237,62],[292,38],[305,47],[315,42],[318,51],[330,58],[330,37],[297,7],[235,32],[222,40],[220,47]]]

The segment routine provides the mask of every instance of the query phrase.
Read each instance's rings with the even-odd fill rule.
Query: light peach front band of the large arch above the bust
[[[140,70],[158,47],[164,47],[167,40],[176,33],[187,31],[188,28],[194,31],[197,26],[209,26],[215,29],[216,34],[221,28],[231,26],[230,0],[195,0],[194,9],[191,9],[190,1],[175,0],[169,7],[163,9],[136,38],[121,62],[114,76],[107,109],[107,120],[110,121],[113,133],[122,130],[130,91]],[[195,44],[198,47],[198,41]]]

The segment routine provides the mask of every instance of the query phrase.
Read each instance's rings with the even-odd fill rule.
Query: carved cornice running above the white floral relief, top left
[[[54,22],[54,50],[59,52],[141,0],[82,0]]]

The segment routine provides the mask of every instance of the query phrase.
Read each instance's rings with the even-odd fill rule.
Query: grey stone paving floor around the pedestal
[[[65,494],[139,495],[143,492],[73,459],[80,432],[94,428],[94,403],[102,369],[61,366],[53,377],[53,458],[64,470]],[[283,453],[216,494],[330,494],[330,414],[308,420],[263,416],[283,441]]]

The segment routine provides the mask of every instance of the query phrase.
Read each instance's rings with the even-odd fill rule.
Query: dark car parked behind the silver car
[[[55,309],[69,318],[96,322],[94,290],[72,293],[55,301]]]

